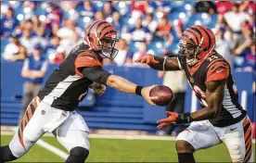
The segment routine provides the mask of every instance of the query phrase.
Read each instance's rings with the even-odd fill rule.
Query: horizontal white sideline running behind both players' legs
[[[13,135],[14,132],[1,132],[3,135]],[[45,133],[44,136],[53,137],[53,134]],[[112,134],[96,134],[90,133],[89,138],[96,139],[126,139],[126,140],[158,140],[158,141],[175,141],[173,136],[149,136],[149,135],[112,135]],[[255,144],[255,139],[252,139]]]

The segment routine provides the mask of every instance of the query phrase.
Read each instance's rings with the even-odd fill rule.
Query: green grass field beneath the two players
[[[1,145],[8,144],[11,135],[1,135]],[[68,153],[55,137],[43,140]],[[174,141],[89,139],[91,144],[87,162],[177,162]],[[253,144],[255,148],[255,144]],[[231,162],[224,144],[195,153],[197,162]],[[35,144],[24,157],[13,162],[63,162],[61,157]]]

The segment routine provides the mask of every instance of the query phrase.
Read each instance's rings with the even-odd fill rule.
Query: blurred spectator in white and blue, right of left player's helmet
[[[131,41],[133,42],[147,42],[149,44],[152,40],[152,34],[142,25],[142,18],[136,19],[134,28],[129,30],[131,34]]]

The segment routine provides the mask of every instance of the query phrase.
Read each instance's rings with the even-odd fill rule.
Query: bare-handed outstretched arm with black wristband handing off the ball
[[[79,71],[82,72],[84,77],[91,81],[108,85],[109,87],[115,88],[124,93],[142,95],[149,104],[155,106],[149,97],[149,92],[156,85],[142,87],[122,78],[121,76],[113,75],[99,66],[80,68]]]

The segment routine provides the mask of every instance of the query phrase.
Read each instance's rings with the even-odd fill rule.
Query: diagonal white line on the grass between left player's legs
[[[58,149],[57,147],[46,143],[45,141],[43,141],[42,139],[39,139],[36,144],[44,147],[45,149],[47,149],[48,151],[51,151],[52,153],[54,153],[55,155],[57,155],[58,157],[61,157],[63,159],[67,159],[69,157],[69,155],[63,151],[61,151],[60,149]]]

